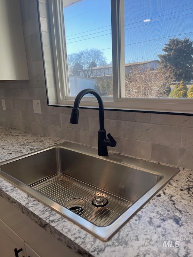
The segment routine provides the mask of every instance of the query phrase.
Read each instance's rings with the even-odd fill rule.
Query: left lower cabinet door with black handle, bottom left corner
[[[19,257],[26,256],[24,241],[0,219],[0,256],[14,257],[15,248],[22,248]]]

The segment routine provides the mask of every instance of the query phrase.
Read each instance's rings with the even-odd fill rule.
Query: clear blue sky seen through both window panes
[[[83,0],[65,8],[64,17],[68,54],[105,49],[112,61],[110,0]],[[125,63],[159,59],[169,38],[193,41],[192,25],[191,0],[125,0]]]

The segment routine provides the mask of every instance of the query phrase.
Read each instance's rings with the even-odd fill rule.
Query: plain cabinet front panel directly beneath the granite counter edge
[[[4,221],[13,231],[15,231],[17,235],[22,238],[25,243],[27,243],[27,245],[30,246],[33,251],[35,251],[41,257],[79,256],[67,246],[64,246],[62,243],[60,243],[55,237],[46,232],[42,227],[38,226],[35,222],[30,220],[30,218],[17,210],[1,196],[0,206],[0,219]],[[16,247],[17,246],[14,248]],[[19,256],[24,256],[24,254]],[[31,257],[29,254],[27,256]],[[1,255],[1,251],[0,257],[4,257]],[[12,257],[12,255],[9,255],[8,257]]]

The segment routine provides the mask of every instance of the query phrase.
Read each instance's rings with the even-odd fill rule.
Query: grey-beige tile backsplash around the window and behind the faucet
[[[74,125],[71,108],[47,106],[36,0],[20,4],[30,79],[0,82],[0,124],[97,146],[98,110],[81,109]],[[33,113],[32,100],[41,101],[42,114]],[[105,128],[117,141],[109,149],[193,169],[193,116],[105,111]]]

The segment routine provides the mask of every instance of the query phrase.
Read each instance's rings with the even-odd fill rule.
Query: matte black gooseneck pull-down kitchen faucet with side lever
[[[98,131],[98,155],[105,156],[108,155],[107,146],[115,147],[117,142],[111,136],[110,133],[107,134],[108,139],[106,138],[106,130],[104,125],[104,109],[103,109],[103,100],[99,93],[94,89],[83,89],[81,92],[78,93],[74,100],[74,107],[72,108],[70,123],[78,124],[78,116],[79,116],[79,104],[82,97],[86,94],[92,94],[96,96],[96,99],[99,103],[99,124],[100,129]]]

